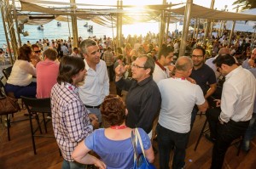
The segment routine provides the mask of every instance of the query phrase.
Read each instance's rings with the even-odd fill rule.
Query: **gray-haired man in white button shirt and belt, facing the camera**
[[[102,122],[100,106],[109,94],[109,79],[106,63],[100,59],[101,53],[96,41],[86,39],[80,44],[81,54],[84,56],[87,76],[79,87],[79,97],[85,107]]]

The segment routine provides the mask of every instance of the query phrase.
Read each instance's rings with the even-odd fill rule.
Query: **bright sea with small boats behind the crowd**
[[[68,37],[73,37],[72,33],[72,23],[71,22],[64,22],[61,21],[61,26],[57,26],[57,20],[52,20],[48,24],[44,25],[44,30],[38,30],[39,25],[24,25],[24,31],[29,33],[29,36],[24,37],[20,34],[21,43],[24,44],[27,41],[30,41],[32,44],[37,42],[39,39],[47,38],[51,39],[68,39]],[[93,32],[87,31],[87,27],[84,27],[85,23],[88,25],[93,25]],[[116,36],[116,29],[109,28],[103,25],[98,25],[90,20],[78,20],[78,37],[82,37],[83,39],[88,37],[97,38],[100,37],[115,37]],[[68,28],[69,25],[69,28]],[[172,23],[169,25],[169,31],[182,31],[183,25],[178,23]],[[134,25],[123,25],[122,27],[123,35],[127,37],[129,34],[131,36],[146,36],[147,33],[150,31],[151,33],[158,33],[160,30],[160,23],[159,22],[149,22],[149,23],[137,23]],[[17,37],[16,37],[17,38]],[[17,38],[18,39],[18,38]],[[0,48],[4,48],[6,46],[6,37],[3,30],[3,21],[2,16],[0,14]]]

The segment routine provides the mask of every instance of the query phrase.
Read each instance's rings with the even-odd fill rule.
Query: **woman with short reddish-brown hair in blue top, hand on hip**
[[[102,119],[105,128],[97,129],[84,139],[73,151],[73,159],[82,164],[94,164],[100,169],[130,169],[133,167],[133,148],[131,144],[130,127],[125,126],[124,101],[116,95],[108,95],[101,106]],[[146,158],[150,163],[154,162],[154,151],[150,139],[142,128],[138,128],[145,149]],[[89,155],[94,150],[101,160]],[[142,153],[139,144],[138,152]]]

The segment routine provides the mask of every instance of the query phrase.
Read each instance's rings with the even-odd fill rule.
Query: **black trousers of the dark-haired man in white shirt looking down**
[[[224,156],[230,144],[236,139],[244,135],[250,121],[232,121],[218,123],[217,140],[212,149],[212,166],[211,169],[221,169],[224,163]]]

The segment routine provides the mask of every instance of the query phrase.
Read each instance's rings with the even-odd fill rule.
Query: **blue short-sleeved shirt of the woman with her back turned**
[[[138,128],[143,148],[149,149],[151,146],[150,139],[142,128]],[[97,129],[88,136],[84,144],[96,152],[102,158],[102,161],[108,166],[108,169],[130,169],[133,168],[133,148],[131,138],[124,140],[111,140],[105,136],[105,129]],[[141,153],[138,145],[138,152]]]

